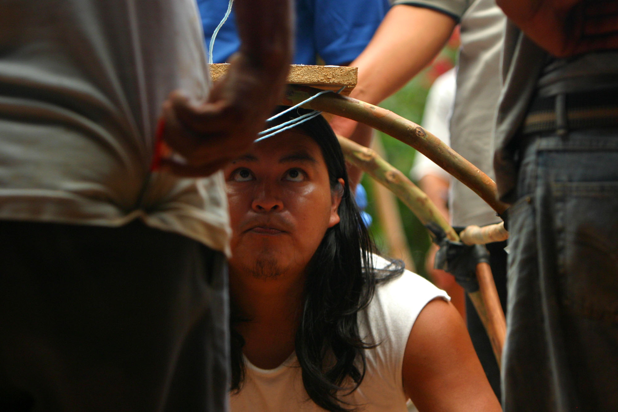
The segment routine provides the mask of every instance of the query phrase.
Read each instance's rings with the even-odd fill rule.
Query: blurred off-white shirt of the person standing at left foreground
[[[150,173],[172,90],[208,95],[194,0],[0,0],[0,219],[135,218],[228,251],[221,173]]]

